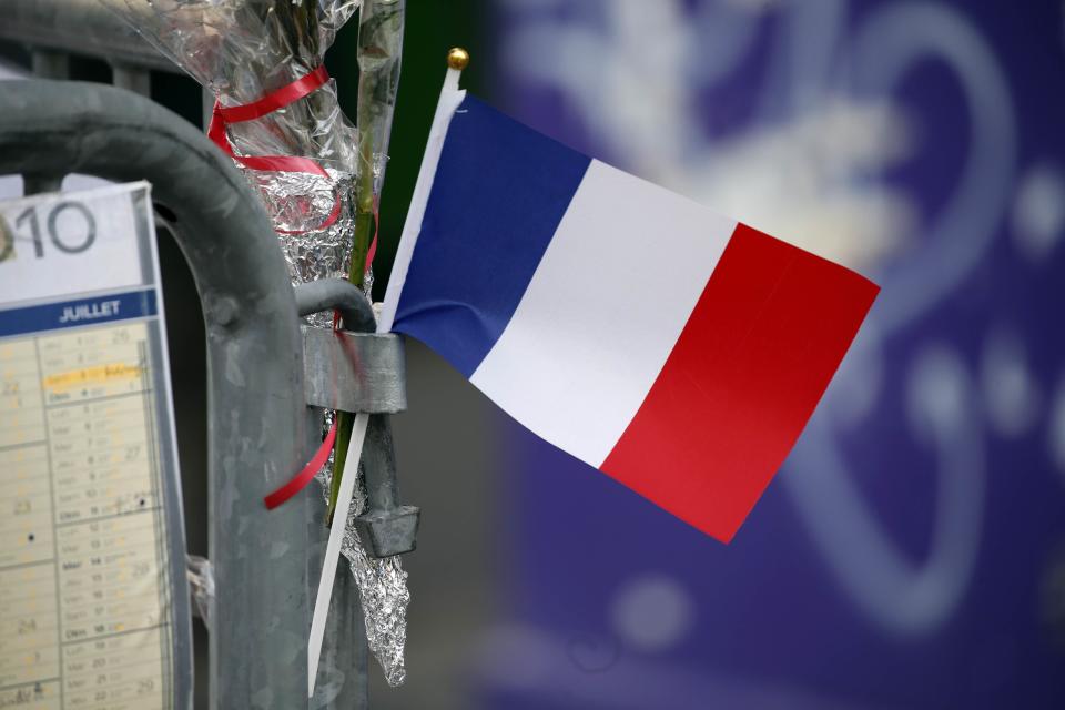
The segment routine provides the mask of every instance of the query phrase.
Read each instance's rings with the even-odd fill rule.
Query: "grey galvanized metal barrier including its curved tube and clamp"
[[[92,12],[83,7],[89,2],[9,4],[16,6],[16,21],[4,19],[4,37],[21,32],[20,22],[52,17],[49,8]],[[51,38],[49,49],[65,41],[62,33],[39,30],[24,37]],[[94,42],[110,42],[109,31],[88,32],[75,47],[100,49]],[[122,55],[140,54],[123,49]],[[63,64],[61,55],[34,54],[34,65],[47,73],[60,73]],[[146,88],[144,69],[123,71],[115,74],[125,77],[123,83]],[[169,226],[195,278],[207,331],[210,557],[216,579],[211,707],[304,707],[311,600],[327,537],[321,491],[307,488],[273,511],[262,498],[320,443],[322,410],[308,403],[371,413],[405,407],[400,343],[347,333],[338,356],[331,349],[339,347],[338,338],[313,331],[302,336],[300,314],[334,307],[346,326],[366,331],[373,323],[368,304],[345,282],[306,285],[294,297],[268,219],[243,176],[169,111],[128,91],[55,81],[2,82],[0,106],[0,174],[22,173],[27,192],[55,189],[72,172],[149,180],[154,200],[174,215]],[[353,386],[337,388],[338,382]],[[384,556],[413,548],[417,509],[397,504],[387,418],[372,418],[369,514],[362,530],[371,554]],[[278,541],[287,545],[280,556]],[[358,592],[351,575],[338,575],[336,585],[308,707],[365,708]]]

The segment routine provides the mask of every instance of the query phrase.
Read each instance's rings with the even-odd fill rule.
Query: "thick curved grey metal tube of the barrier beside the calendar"
[[[149,180],[175,215],[207,331],[212,708],[307,707],[306,635],[325,541],[321,494],[267,511],[262,497],[310,455],[302,343],[284,260],[244,178],[194,126],[128,91],[0,82],[0,174]],[[173,307],[173,304],[172,304]],[[348,577],[348,576],[343,576]],[[349,598],[348,598],[349,599]],[[357,632],[347,627],[338,635]],[[356,657],[332,639],[344,673]],[[351,681],[359,679],[355,669]],[[362,676],[364,678],[364,676]],[[341,694],[337,693],[339,701]],[[349,693],[365,698],[365,688]],[[316,697],[314,707],[332,706]],[[348,703],[344,707],[364,707]]]

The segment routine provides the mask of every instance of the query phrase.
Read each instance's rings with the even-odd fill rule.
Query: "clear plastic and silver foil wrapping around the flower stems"
[[[387,162],[404,0],[103,2],[209,88],[223,108],[260,102],[313,74],[337,30],[362,6],[362,134],[341,111],[332,80],[254,120],[227,123],[224,134],[273,221],[293,283],[349,276],[368,292],[371,274],[363,265],[376,232],[377,197]],[[253,170],[242,164],[247,156],[310,159],[320,170]],[[308,320],[320,326],[331,321],[328,314]],[[326,486],[331,467],[332,463],[322,476]],[[356,490],[352,510],[361,511],[365,494],[362,486]],[[406,574],[398,558],[369,558],[351,524],[343,554],[363,598],[369,647],[388,682],[398,684],[405,677]]]

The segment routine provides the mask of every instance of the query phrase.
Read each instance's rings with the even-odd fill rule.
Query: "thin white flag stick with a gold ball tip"
[[[447,126],[455,115],[455,110],[463,102],[466,92],[459,90],[458,80],[463,69],[469,63],[469,54],[463,49],[453,49],[447,54],[447,75],[444,78],[444,88],[440,90],[440,100],[433,116],[433,128],[429,130],[429,140],[422,158],[422,169],[415,183],[414,195],[410,199],[410,209],[407,221],[403,225],[399,237],[399,247],[388,278],[388,288],[385,292],[385,303],[381,318],[377,321],[377,332],[388,333],[396,316],[396,306],[399,292],[407,277],[407,267],[414,254],[414,244],[422,231],[422,219],[429,201],[433,189],[433,179],[436,176],[436,165],[444,149],[444,139],[447,136]],[[333,582],[336,580],[336,566],[341,556],[341,544],[344,540],[344,528],[347,525],[347,514],[352,507],[352,495],[355,493],[355,479],[358,476],[358,462],[363,454],[363,443],[366,439],[366,424],[369,415],[356,414],[352,427],[352,438],[347,448],[344,475],[341,478],[341,489],[337,493],[336,510],[333,514],[333,526],[329,528],[329,541],[325,548],[325,558],[322,561],[322,577],[318,580],[318,594],[314,602],[314,616],[311,618],[311,636],[307,638],[307,697],[314,696],[314,682],[318,670],[318,660],[322,656],[322,639],[325,636],[325,622],[329,613],[329,600],[333,598]]]

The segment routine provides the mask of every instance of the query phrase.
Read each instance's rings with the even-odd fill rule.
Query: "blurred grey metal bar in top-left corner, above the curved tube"
[[[155,48],[104,7],[100,0],[3,0],[0,39],[74,54],[178,72]],[[148,0],[130,0],[145,19]],[[49,75],[50,79],[59,77]]]

